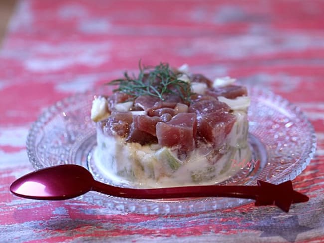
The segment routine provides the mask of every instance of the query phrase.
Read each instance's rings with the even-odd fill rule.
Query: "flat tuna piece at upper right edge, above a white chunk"
[[[248,94],[246,87],[239,85],[228,85],[225,87],[207,89],[206,95],[210,96],[224,96],[228,99],[234,99],[238,96],[246,96]]]

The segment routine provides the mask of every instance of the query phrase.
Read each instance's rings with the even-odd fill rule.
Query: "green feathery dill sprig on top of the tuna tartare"
[[[135,98],[141,95],[150,95],[165,100],[166,94],[175,94],[184,102],[190,102],[190,83],[178,79],[182,73],[175,73],[167,63],[160,63],[155,67],[142,66],[139,62],[140,72],[136,77],[130,77],[127,72],[124,78],[115,79],[109,85],[118,85],[114,91],[120,91]]]

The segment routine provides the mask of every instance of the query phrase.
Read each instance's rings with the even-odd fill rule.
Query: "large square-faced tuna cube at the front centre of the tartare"
[[[194,136],[197,132],[197,119],[194,113],[179,113],[171,121],[158,122],[156,133],[161,146],[179,145],[185,151],[194,149]]]

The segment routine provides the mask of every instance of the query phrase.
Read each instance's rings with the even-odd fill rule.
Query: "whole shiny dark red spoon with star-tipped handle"
[[[308,197],[293,190],[292,182],[274,185],[258,181],[258,186],[186,186],[154,189],[115,187],[95,181],[91,173],[74,164],[47,167],[14,181],[10,191],[19,197],[63,200],[97,191],[116,197],[158,199],[183,197],[236,197],[255,199],[255,205],[277,205],[288,212],[292,203],[308,201]]]

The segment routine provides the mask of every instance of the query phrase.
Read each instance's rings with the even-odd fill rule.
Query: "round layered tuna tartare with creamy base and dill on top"
[[[127,72],[110,96],[93,100],[94,160],[115,181],[144,187],[213,184],[250,161],[250,99],[235,79],[160,63]]]

